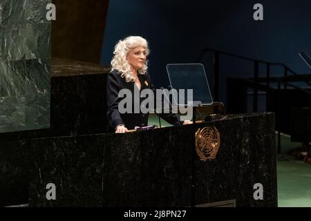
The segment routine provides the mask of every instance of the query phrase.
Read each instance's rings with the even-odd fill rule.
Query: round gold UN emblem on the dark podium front
[[[220,146],[220,133],[217,128],[205,127],[196,131],[196,153],[206,162],[216,158]]]

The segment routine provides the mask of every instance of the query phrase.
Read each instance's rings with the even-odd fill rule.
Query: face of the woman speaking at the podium
[[[144,67],[147,59],[147,52],[143,46],[138,46],[129,51],[126,59],[133,70],[138,71]]]

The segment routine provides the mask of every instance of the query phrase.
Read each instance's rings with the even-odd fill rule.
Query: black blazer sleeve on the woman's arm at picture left
[[[117,81],[117,76],[113,73],[110,73],[107,77],[107,118],[111,127],[114,129],[119,124],[124,124],[120,113],[118,111],[118,105],[120,98],[118,97],[121,86]]]

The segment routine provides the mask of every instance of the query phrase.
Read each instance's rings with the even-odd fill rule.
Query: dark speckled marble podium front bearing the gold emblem
[[[197,128],[220,133],[216,159],[194,154]],[[126,134],[32,139],[30,206],[277,206],[273,113]],[[194,157],[191,157],[194,156]],[[56,200],[46,199],[46,184]],[[253,186],[263,185],[263,200]],[[194,184],[194,188],[191,188]]]

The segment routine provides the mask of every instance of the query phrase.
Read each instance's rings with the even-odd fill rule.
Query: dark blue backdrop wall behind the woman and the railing
[[[255,3],[263,5],[263,21],[253,19]],[[110,64],[119,39],[140,35],[149,41],[149,73],[158,88],[169,84],[166,64],[197,62],[206,47],[281,62],[296,73],[308,74],[311,70],[299,52],[311,54],[310,9],[311,1],[307,0],[109,1],[100,64]],[[200,59],[209,82],[214,72],[211,62],[209,53]],[[265,67],[259,68],[259,76],[264,76]],[[272,76],[283,75],[282,68],[270,71]],[[219,101],[226,102],[227,77],[253,75],[254,63],[220,56]]]

